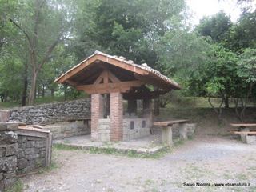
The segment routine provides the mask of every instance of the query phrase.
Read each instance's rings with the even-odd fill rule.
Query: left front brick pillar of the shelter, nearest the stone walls
[[[98,119],[103,118],[103,97],[101,94],[91,94],[91,134],[92,141],[98,141]]]

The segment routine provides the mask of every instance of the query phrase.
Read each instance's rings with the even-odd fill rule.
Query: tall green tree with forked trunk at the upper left
[[[20,9],[10,22],[24,34],[31,68],[29,105],[34,103],[38,73],[48,62],[54,48],[66,37],[70,11],[62,2],[19,1]],[[67,13],[66,13],[67,11]],[[68,16],[67,16],[68,15]]]

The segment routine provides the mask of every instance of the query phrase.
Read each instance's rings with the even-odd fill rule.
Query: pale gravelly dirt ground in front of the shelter
[[[195,138],[160,159],[54,151],[59,168],[22,178],[25,191],[256,191],[256,149],[230,138]],[[184,186],[250,182],[251,187]]]

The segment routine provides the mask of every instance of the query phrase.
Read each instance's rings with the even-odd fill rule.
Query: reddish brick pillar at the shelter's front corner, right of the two
[[[122,141],[122,94],[110,94],[110,141]]]

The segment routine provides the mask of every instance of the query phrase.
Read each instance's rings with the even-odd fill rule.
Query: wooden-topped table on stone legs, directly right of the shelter
[[[173,143],[173,132],[172,126],[174,124],[178,124],[179,128],[179,136],[182,139],[187,138],[186,128],[185,126],[180,126],[180,124],[189,122],[188,119],[180,119],[180,120],[173,120],[173,121],[166,121],[166,122],[154,122],[154,126],[159,126],[162,128],[162,142],[168,146],[172,146]]]

